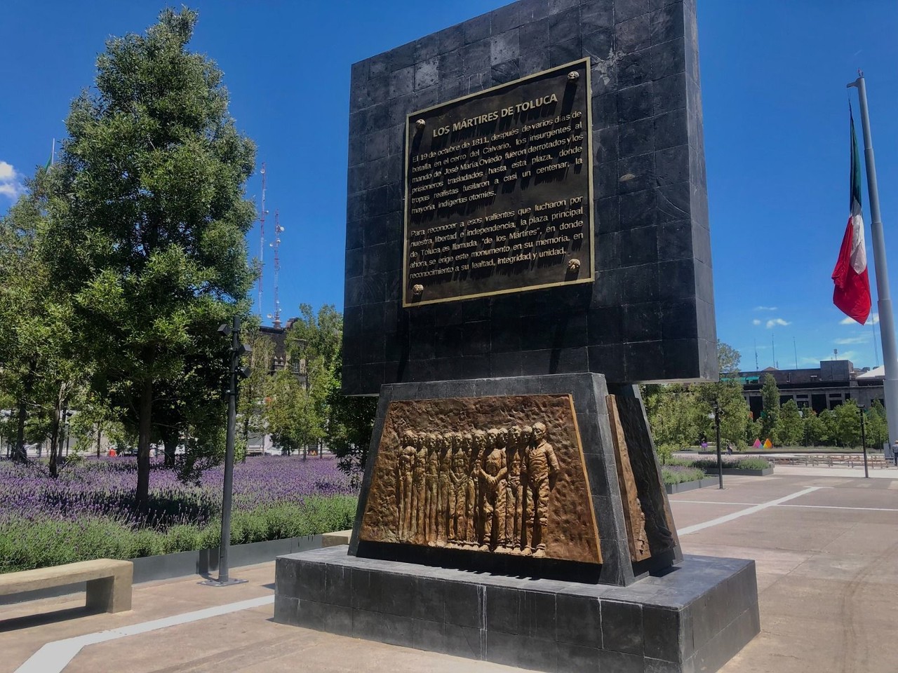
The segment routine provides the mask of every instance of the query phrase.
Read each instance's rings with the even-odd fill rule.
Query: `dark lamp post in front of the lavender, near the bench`
[[[240,367],[243,354],[251,353],[249,345],[240,343],[240,318],[234,316],[232,325],[222,325],[219,334],[231,337],[228,367],[227,440],[225,441],[225,486],[222,494],[222,535],[218,545],[218,579],[201,581],[211,587],[226,587],[242,584],[246,580],[236,580],[230,576],[228,552],[231,547],[231,500],[233,496],[233,444],[237,432],[237,376],[249,376],[249,368]]]

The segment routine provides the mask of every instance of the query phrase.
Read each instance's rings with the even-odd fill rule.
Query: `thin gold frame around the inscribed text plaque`
[[[515,86],[516,84],[520,84],[522,82],[526,82],[527,80],[534,79],[536,77],[540,77],[547,73],[553,73],[558,70],[564,70],[570,67],[576,66],[586,66],[586,129],[588,133],[586,134],[586,153],[588,155],[589,165],[587,166],[589,170],[589,185],[588,185],[588,193],[589,193],[589,207],[587,208],[589,212],[589,275],[584,278],[577,278],[577,280],[571,281],[558,281],[556,283],[543,283],[538,285],[527,285],[525,287],[513,287],[508,288],[506,290],[495,290],[493,292],[487,293],[474,293],[474,294],[460,294],[457,297],[444,297],[441,299],[431,299],[422,302],[409,302],[408,301],[408,293],[409,293],[409,163],[410,163],[410,154],[409,154],[409,123],[410,119],[415,117],[416,115],[424,114],[426,112],[430,112],[434,109],[444,108],[447,105],[453,105],[453,103],[457,103],[460,101],[465,101],[467,99],[476,98],[478,96],[487,95],[490,93],[495,93],[500,89],[506,89],[510,86]],[[483,91],[476,93],[469,93],[466,96],[460,96],[459,98],[455,98],[452,101],[444,101],[439,103],[438,105],[431,105],[429,108],[418,109],[414,112],[409,112],[409,114],[405,117],[405,140],[404,140],[404,153],[405,153],[405,168],[402,173],[402,308],[408,309],[415,306],[426,306],[427,304],[436,304],[436,303],[444,303],[444,302],[460,302],[466,299],[476,299],[478,297],[491,297],[497,294],[510,294],[510,293],[523,293],[530,292],[531,290],[544,290],[547,287],[558,287],[559,285],[577,285],[583,283],[593,283],[595,280],[595,225],[594,225],[594,196],[593,196],[593,101],[592,101],[592,92],[593,92],[593,80],[592,80],[592,66],[590,65],[590,57],[579,58],[576,61],[571,61],[570,63],[566,63],[562,66],[555,66],[549,68],[547,70],[541,70],[539,73],[528,74],[526,77],[521,77],[520,79],[516,79],[513,82],[506,82],[504,84],[498,84],[497,86],[490,87],[489,89],[484,89]]]

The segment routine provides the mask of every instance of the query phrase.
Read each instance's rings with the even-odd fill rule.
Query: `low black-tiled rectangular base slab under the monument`
[[[277,559],[275,621],[524,669],[710,673],[760,631],[754,562],[687,555],[628,587],[348,555]]]

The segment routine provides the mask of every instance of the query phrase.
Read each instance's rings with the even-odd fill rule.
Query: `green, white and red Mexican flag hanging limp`
[[[867,248],[864,245],[864,219],[860,215],[860,156],[858,138],[851,120],[851,202],[848,226],[842,238],[839,259],[832,269],[832,303],[861,325],[870,315],[870,278],[867,275]]]

